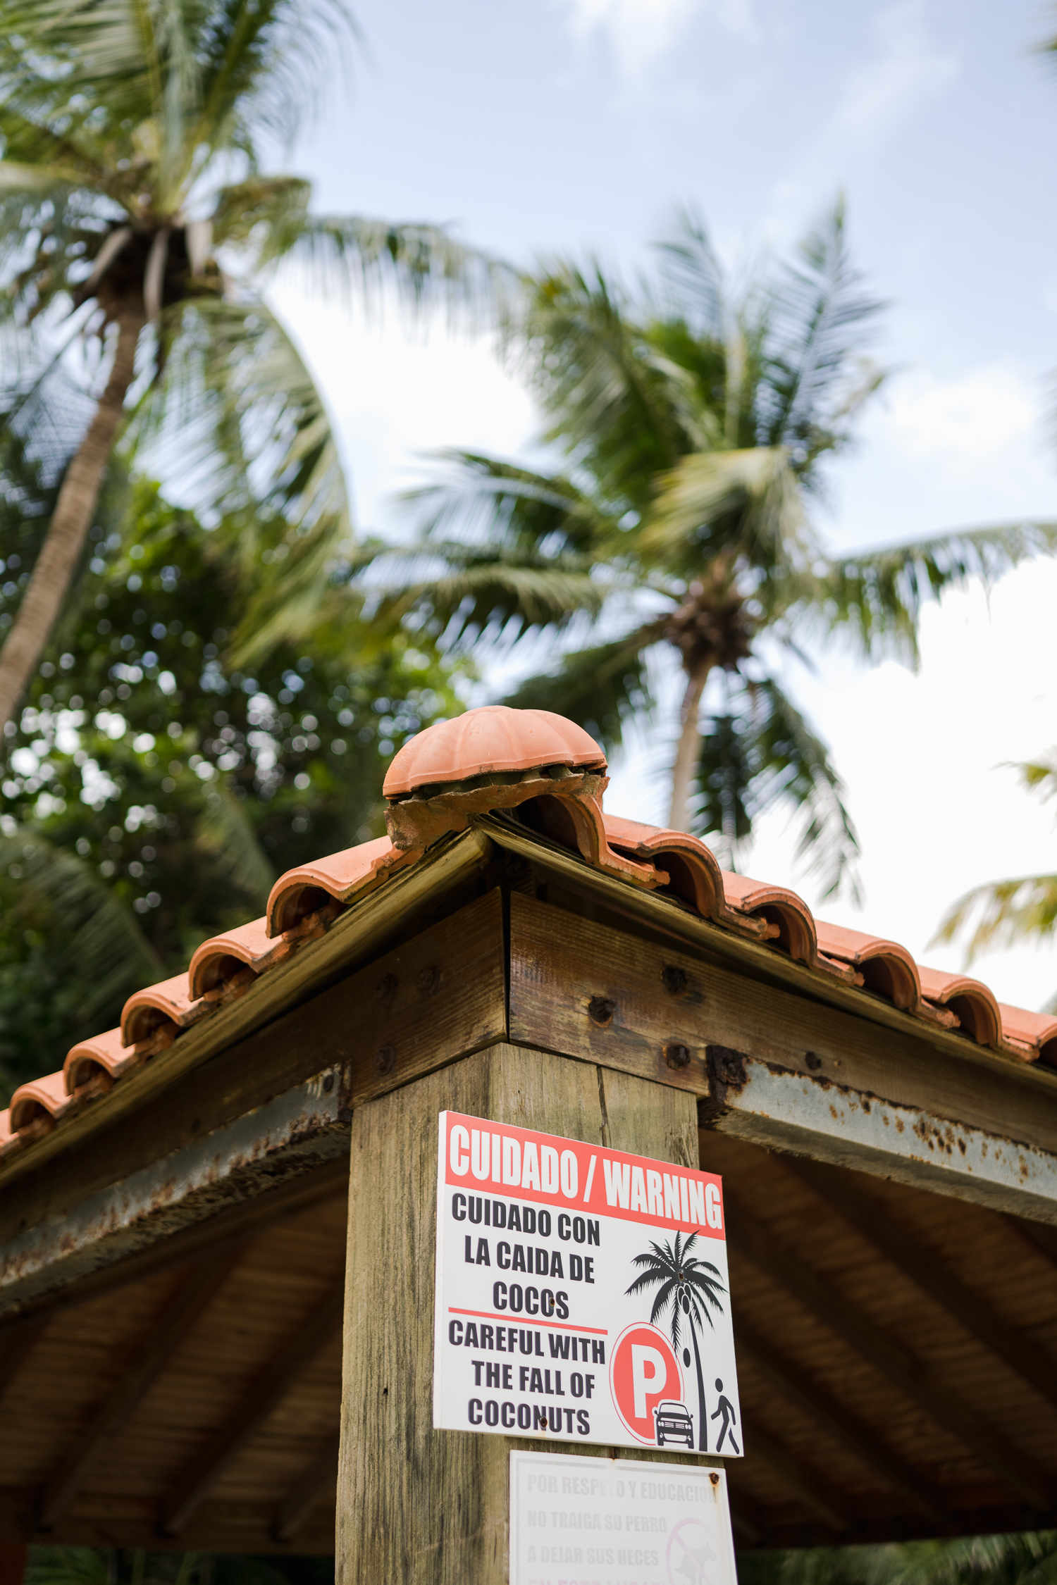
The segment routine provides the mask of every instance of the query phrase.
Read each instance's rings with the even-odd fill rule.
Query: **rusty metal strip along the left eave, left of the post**
[[[342,1068],[325,1068],[0,1249],[0,1314],[349,1151]]]

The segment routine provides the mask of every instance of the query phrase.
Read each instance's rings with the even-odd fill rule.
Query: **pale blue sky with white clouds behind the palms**
[[[363,0],[352,82],[320,84],[295,168],[317,204],[453,223],[515,260],[597,252],[629,276],[680,203],[745,269],[783,250],[837,192],[854,254],[889,301],[887,393],[830,476],[835,545],[957,523],[1057,517],[1046,409],[1057,366],[1051,163],[1057,70],[1047,13],[1006,0]],[[1052,21],[1057,32],[1057,17]],[[292,282],[276,298],[326,391],[366,528],[422,453],[518,453],[536,415],[487,341],[390,314],[366,325]],[[916,677],[821,658],[789,678],[845,772],[864,838],[862,916],[830,918],[919,956],[944,905],[1002,873],[1054,867],[1052,812],[1000,762],[1057,739],[1057,569],[1028,567],[929,615]],[[616,767],[609,802],[661,819],[670,721]],[[800,884],[765,823],[746,867]],[[957,953],[929,959],[956,967]],[[978,965],[1008,1000],[1057,991],[1052,953]]]

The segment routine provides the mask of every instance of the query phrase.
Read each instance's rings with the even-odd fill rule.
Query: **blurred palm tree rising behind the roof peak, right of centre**
[[[1054,550],[1057,525],[826,550],[811,526],[824,464],[883,379],[864,357],[878,303],[840,204],[740,295],[691,216],[650,290],[559,260],[525,295],[512,346],[566,466],[448,453],[448,477],[414,498],[423,540],[391,609],[448,644],[564,632],[558,664],[507,702],[559,710],[609,747],[656,708],[675,658],[669,824],[731,850],[784,802],[832,889],[854,831],[826,747],[778,682],[781,655],[843,632],[868,658],[913,663],[927,598]]]

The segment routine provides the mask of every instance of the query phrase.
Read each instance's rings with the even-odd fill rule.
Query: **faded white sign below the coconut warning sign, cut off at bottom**
[[[510,1453],[510,1585],[737,1585],[724,1471]]]

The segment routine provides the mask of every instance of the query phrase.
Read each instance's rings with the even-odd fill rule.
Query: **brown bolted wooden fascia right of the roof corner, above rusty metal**
[[[1057,1086],[968,1040],[948,1037],[951,1049],[938,1049],[718,968],[675,943],[517,894],[510,897],[510,1040],[702,1097],[712,1089],[707,1048],[724,1046],[818,1083],[1057,1151]]]

